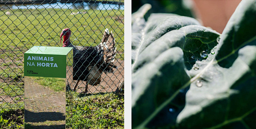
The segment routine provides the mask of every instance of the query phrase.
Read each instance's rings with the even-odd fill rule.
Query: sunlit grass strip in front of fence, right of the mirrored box
[[[72,118],[72,119],[71,119]],[[66,127],[68,129],[123,129],[124,98],[116,94],[97,98],[67,100]]]

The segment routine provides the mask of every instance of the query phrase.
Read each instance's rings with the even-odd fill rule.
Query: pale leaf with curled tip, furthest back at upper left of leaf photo
[[[132,14],[132,64],[139,53],[165,33],[183,26],[200,25],[191,17],[162,13],[151,14],[146,22],[144,15],[150,8],[151,5],[145,4]]]

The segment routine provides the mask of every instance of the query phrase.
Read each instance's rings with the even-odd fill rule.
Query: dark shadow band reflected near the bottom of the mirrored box
[[[30,112],[25,110],[25,122],[45,122],[65,120],[65,114],[60,112]],[[64,126],[65,127],[65,126]]]

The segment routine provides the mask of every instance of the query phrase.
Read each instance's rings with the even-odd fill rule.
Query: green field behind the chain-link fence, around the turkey
[[[7,11],[11,15],[6,15]],[[78,11],[86,13],[71,15]],[[64,28],[72,31],[70,41],[81,46],[97,45],[105,28],[109,28],[116,37],[116,58],[123,60],[123,17],[123,10],[0,10],[0,96],[24,95],[23,53],[32,46],[61,46]]]

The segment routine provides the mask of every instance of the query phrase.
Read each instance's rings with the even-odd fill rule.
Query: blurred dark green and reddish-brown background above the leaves
[[[241,0],[132,0],[132,13],[145,3],[152,8],[145,15],[151,13],[172,13],[193,17],[202,26],[210,27],[222,33],[228,20]]]

